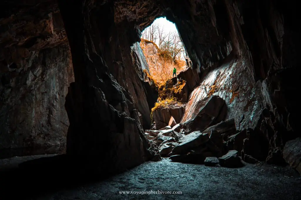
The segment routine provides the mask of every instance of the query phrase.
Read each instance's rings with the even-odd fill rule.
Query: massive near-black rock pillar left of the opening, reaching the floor
[[[125,170],[154,158],[158,151],[144,136],[133,98],[121,86],[123,82],[116,81],[121,75],[109,67],[109,62],[116,60],[120,70],[124,64],[120,62],[113,3],[61,1],[59,6],[75,78],[65,103],[70,121],[67,154],[87,158],[89,170],[101,173]],[[110,41],[113,44],[106,46]],[[126,48],[130,50],[130,46]],[[127,59],[131,59],[130,54]],[[134,74],[127,75],[135,78]]]

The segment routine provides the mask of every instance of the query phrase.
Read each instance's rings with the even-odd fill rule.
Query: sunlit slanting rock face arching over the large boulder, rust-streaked
[[[196,103],[219,95],[228,107],[227,119],[234,118],[236,129],[254,128],[262,109],[260,83],[254,83],[243,60],[228,62],[210,71],[191,92],[182,121],[192,115]]]

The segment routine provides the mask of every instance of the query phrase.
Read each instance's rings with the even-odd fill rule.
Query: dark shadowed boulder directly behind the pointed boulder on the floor
[[[228,150],[237,150],[238,155],[241,155],[241,150],[243,149],[244,139],[247,138],[247,130],[244,129],[239,133],[229,136],[226,138],[226,147]]]

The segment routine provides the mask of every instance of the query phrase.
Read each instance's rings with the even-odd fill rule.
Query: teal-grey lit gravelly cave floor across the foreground
[[[19,158],[20,160],[20,158]],[[120,194],[119,192],[182,192]],[[290,167],[253,165],[207,167],[170,162],[145,162],[96,183],[48,192],[31,199],[301,199],[301,177]]]

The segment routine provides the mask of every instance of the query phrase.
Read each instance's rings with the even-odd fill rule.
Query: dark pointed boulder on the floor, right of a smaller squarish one
[[[242,162],[240,161],[240,157],[238,157],[237,150],[230,150],[228,153],[219,158],[219,164],[223,167],[241,167],[243,166]]]

